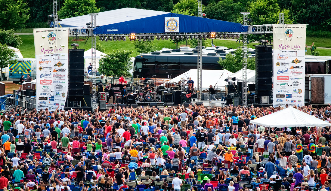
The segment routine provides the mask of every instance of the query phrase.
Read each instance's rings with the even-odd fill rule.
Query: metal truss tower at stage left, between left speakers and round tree
[[[90,36],[92,39],[92,46],[91,46],[91,56],[92,56],[92,60],[91,60],[91,64],[92,64],[92,97],[91,97],[91,106],[92,106],[92,110],[97,108],[97,78],[96,78],[96,74],[97,74],[97,58],[96,58],[96,51],[97,51],[97,37],[95,35],[93,35],[93,29],[97,26],[97,16],[98,14],[93,13],[93,14],[89,14],[91,16],[91,22],[92,22],[92,28],[90,30]]]

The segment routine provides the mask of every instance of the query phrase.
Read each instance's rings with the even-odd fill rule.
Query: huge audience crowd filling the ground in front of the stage
[[[1,111],[0,191],[329,190],[327,127],[250,122],[282,109]],[[297,109],[331,121],[331,107]]]

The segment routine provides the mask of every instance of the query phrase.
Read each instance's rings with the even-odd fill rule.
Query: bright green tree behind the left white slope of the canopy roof
[[[65,0],[58,12],[60,19],[98,13],[100,9],[95,6],[95,0]]]

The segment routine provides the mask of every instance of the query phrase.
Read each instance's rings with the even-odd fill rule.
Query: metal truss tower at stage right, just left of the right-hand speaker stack
[[[241,12],[243,15],[243,25],[248,25],[247,19],[249,12]],[[248,41],[248,33],[249,31],[246,31],[243,33],[243,106],[247,106],[247,64],[248,64],[248,47],[247,47],[247,41]]]

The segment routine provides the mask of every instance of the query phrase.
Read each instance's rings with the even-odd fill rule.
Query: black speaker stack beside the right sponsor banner
[[[255,46],[255,95],[271,96],[272,45]]]

